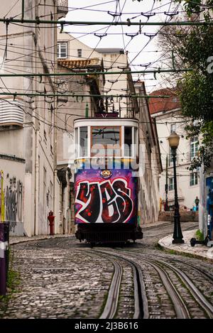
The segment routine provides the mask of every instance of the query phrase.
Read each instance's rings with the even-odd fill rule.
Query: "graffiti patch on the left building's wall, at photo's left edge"
[[[4,178],[1,171],[1,221],[21,222],[23,217],[23,182],[16,180],[16,177],[10,177],[9,173]]]

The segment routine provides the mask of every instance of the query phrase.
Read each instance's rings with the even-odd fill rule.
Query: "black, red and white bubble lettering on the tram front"
[[[126,180],[80,182],[76,203],[81,204],[76,218],[85,223],[124,223],[133,212],[131,190]]]

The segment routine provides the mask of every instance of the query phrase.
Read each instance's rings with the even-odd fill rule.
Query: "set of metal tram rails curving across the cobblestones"
[[[116,311],[119,306],[119,289],[121,285],[121,278],[122,278],[122,267],[121,263],[119,261],[125,261],[126,263],[129,263],[129,265],[132,268],[133,271],[133,289],[134,289],[134,314],[133,318],[148,318],[149,312],[148,312],[148,299],[146,296],[146,289],[143,282],[143,275],[140,268],[140,265],[138,263],[143,262],[146,263],[146,265],[152,266],[155,271],[158,272],[158,275],[160,276],[160,280],[162,281],[165,290],[167,291],[170,300],[173,303],[173,307],[175,309],[176,317],[177,318],[191,318],[190,310],[187,309],[187,305],[185,304],[184,297],[182,298],[180,296],[180,293],[178,293],[178,290],[175,286],[174,281],[170,278],[170,274],[168,273],[168,270],[173,271],[177,278],[182,281],[182,283],[185,285],[187,290],[189,290],[189,293],[192,295],[194,300],[197,302],[197,304],[202,307],[204,312],[207,314],[207,317],[213,318],[213,307],[212,304],[202,295],[200,290],[196,287],[195,283],[192,282],[192,280],[187,276],[187,274],[180,271],[179,268],[175,268],[173,263],[168,263],[163,261],[163,256],[160,255],[153,255],[148,253],[143,253],[138,256],[138,253],[136,251],[125,251],[124,249],[119,249],[124,256],[119,255],[119,253],[109,252],[109,251],[99,251],[96,249],[92,249],[89,252],[93,252],[96,254],[99,254],[101,256],[107,256],[111,263],[114,265],[114,275],[111,280],[111,285],[108,292],[107,302],[104,307],[104,310],[102,312],[102,315],[100,318],[102,319],[113,319],[116,315]],[[136,257],[137,263],[134,259],[131,258],[131,256]],[[204,275],[206,278],[208,278],[209,281],[212,282],[212,275],[202,270],[202,268],[197,268],[192,266],[190,263],[186,263],[185,261],[181,261],[180,258],[178,259],[172,259],[171,261],[178,261],[178,263],[182,263],[185,266],[188,266],[189,268],[193,268],[202,275]],[[122,306],[122,305],[121,305]]]

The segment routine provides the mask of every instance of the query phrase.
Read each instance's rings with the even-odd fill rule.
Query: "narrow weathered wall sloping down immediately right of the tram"
[[[146,95],[144,82],[133,82],[131,76],[128,82],[132,94]],[[141,173],[139,174],[138,202],[141,225],[143,226],[143,224],[158,221],[159,177],[163,169],[157,128],[155,121],[151,119],[147,99],[132,98],[128,116],[138,119],[139,122],[138,140]]]

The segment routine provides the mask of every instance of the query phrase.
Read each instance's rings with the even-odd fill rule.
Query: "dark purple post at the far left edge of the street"
[[[9,270],[9,222],[0,223],[0,295],[6,295]]]

